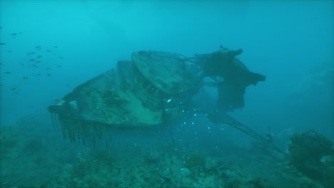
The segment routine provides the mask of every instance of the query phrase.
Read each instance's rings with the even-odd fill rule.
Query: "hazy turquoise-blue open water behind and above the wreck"
[[[134,51],[191,57],[223,45],[242,48],[238,58],[267,76],[247,88],[245,108],[233,117],[260,134],[269,126],[278,140],[311,129],[333,141],[333,7],[333,1],[0,1],[1,127],[29,115],[49,120],[49,105]],[[190,122],[196,126],[185,137],[203,132],[207,142],[223,132],[216,127],[210,135],[213,125],[202,117]]]

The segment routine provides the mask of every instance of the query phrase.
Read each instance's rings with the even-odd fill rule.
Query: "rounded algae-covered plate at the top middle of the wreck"
[[[186,93],[197,87],[200,77],[175,53],[139,51],[132,53],[139,73],[168,95]]]

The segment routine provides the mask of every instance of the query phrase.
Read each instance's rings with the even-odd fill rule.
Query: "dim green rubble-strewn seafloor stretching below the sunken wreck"
[[[148,142],[144,136],[100,148],[70,144],[51,127],[36,117],[1,127],[0,187],[328,187],[291,160],[252,148],[213,155],[186,146],[186,139]]]

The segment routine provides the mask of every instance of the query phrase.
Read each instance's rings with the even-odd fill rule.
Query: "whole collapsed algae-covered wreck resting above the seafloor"
[[[176,53],[138,51],[131,61],[76,87],[49,111],[55,125],[71,141],[95,140],[106,136],[108,128],[131,129],[161,125],[177,120],[182,110],[193,108],[193,95],[204,85],[218,91],[214,109],[198,109],[215,123],[226,123],[251,135],[275,150],[260,135],[228,115],[243,108],[248,85],[264,81],[236,56],[242,50],[221,48],[209,54],[186,58]],[[204,81],[212,78],[211,82]],[[196,106],[195,106],[196,108]]]

